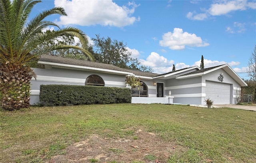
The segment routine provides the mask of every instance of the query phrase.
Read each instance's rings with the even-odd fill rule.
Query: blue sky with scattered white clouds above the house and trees
[[[246,79],[256,45],[256,1],[208,0],[43,0],[32,13],[54,6],[68,16],[47,20],[123,41],[132,56],[156,73],[228,63]],[[49,27],[51,28],[51,27]]]

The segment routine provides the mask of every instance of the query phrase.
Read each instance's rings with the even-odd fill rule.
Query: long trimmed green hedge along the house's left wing
[[[131,103],[131,89],[84,85],[40,85],[40,105]]]

